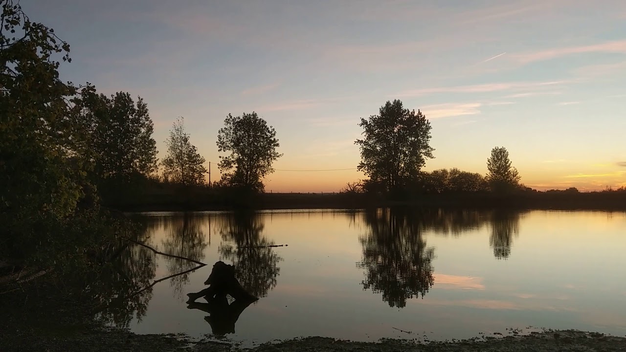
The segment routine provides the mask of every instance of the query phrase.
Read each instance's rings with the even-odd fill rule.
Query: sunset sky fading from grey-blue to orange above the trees
[[[503,146],[537,189],[626,185],[623,0],[21,5],[70,44],[63,80],[146,101],[158,157],[183,116],[212,180],[223,120],[256,111],[284,154],[266,190],[336,192],[364,179],[359,119],[400,99],[431,122],[425,170],[485,174]]]

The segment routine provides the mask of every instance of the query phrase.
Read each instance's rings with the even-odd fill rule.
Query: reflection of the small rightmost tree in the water
[[[505,210],[495,210],[490,216],[491,237],[490,246],[493,256],[497,259],[506,259],[511,255],[513,236],[520,231],[520,214]]]

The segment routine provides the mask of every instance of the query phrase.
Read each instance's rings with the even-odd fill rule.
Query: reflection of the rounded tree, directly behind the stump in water
[[[225,215],[222,243],[218,247],[220,259],[235,266],[235,276],[254,296],[262,298],[276,287],[282,258],[274,252],[275,243],[265,237],[264,218],[254,212],[235,212]]]

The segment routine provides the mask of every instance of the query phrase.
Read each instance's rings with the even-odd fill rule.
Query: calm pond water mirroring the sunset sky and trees
[[[235,264],[242,285],[260,298],[226,335],[246,343],[469,338],[528,326],[626,334],[625,213],[144,215],[146,243],[208,266],[135,296],[132,316],[113,321],[136,333],[230,331],[235,306],[223,307],[209,324],[210,314],[185,303],[222,260]],[[280,244],[289,246],[259,247]],[[195,266],[142,247],[132,255],[146,284]]]

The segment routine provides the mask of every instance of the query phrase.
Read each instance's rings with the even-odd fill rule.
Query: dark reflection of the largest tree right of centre
[[[404,308],[407,299],[424,297],[434,283],[434,249],[426,247],[418,219],[405,210],[364,212],[367,231],[357,264],[366,271],[362,286],[381,293],[390,307]]]

